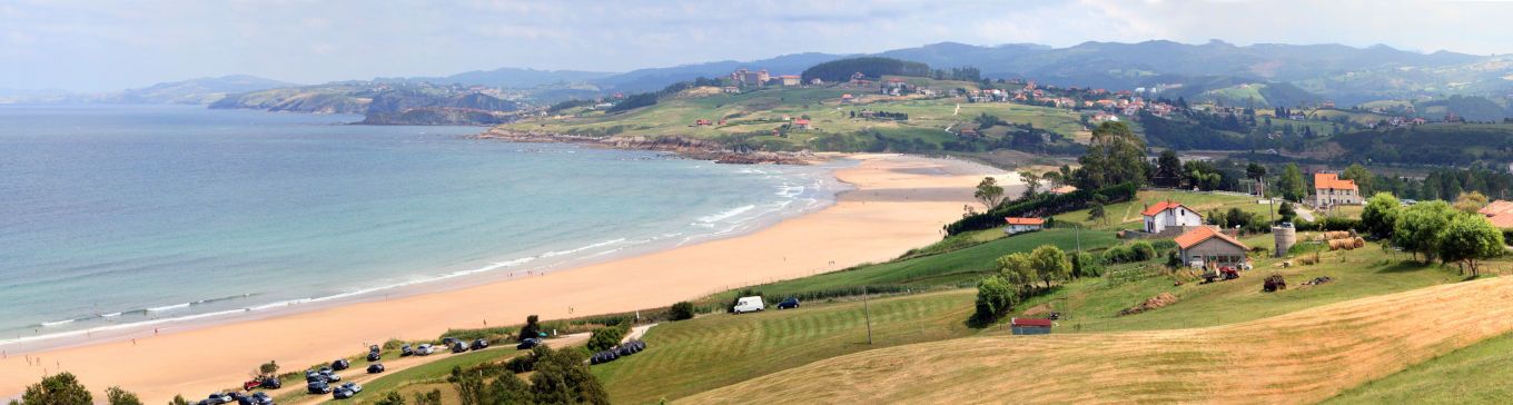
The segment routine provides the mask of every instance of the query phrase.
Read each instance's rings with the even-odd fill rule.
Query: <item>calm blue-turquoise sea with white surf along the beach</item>
[[[191,106],[0,106],[0,345],[507,278],[828,204],[822,166]]]

